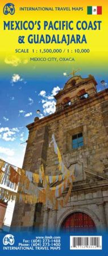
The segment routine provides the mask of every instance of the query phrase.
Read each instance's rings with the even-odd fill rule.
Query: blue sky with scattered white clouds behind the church
[[[64,87],[68,78],[63,75],[65,68],[56,73],[52,69],[42,74],[35,69],[32,74],[16,67],[13,72],[11,70],[8,69],[6,74],[1,72],[0,79],[0,158],[22,167],[26,143],[20,143],[27,140],[26,125],[34,121],[37,109],[44,115],[55,111],[53,96]],[[108,82],[107,77],[98,72],[89,73],[98,82],[97,90],[102,90],[100,81]],[[80,75],[88,77],[89,73],[80,72]]]

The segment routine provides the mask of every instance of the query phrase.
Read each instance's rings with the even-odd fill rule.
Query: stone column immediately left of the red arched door
[[[48,213],[48,230],[55,230],[57,222],[57,210],[50,209]]]

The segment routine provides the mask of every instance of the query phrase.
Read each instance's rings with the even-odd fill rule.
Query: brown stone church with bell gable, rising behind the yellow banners
[[[56,94],[56,111],[27,125],[29,136],[23,169],[58,175],[58,158],[49,147],[52,134],[74,183],[68,203],[60,209],[15,204],[11,226],[28,230],[108,228],[108,89],[97,93],[92,75],[70,78]],[[67,194],[67,189],[62,196]]]

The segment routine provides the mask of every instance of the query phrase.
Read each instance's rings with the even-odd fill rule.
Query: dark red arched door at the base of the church
[[[82,212],[74,212],[70,214],[65,218],[61,225],[61,230],[64,231],[78,232],[81,229],[85,231],[97,230],[92,218],[88,214]]]

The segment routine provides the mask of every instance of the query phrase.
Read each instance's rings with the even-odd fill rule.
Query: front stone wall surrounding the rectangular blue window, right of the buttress
[[[80,161],[84,164],[84,167],[103,172],[105,168],[104,160],[107,159],[108,138],[102,104],[103,102],[97,102],[95,105],[88,105],[88,108],[85,105],[76,112],[72,110],[71,113],[65,114],[63,118],[55,120],[48,126],[48,143],[51,142],[51,136],[54,134],[67,167]],[[84,135],[84,146],[77,149],[67,148],[68,133],[72,137],[72,134],[77,133],[80,127]],[[48,147],[46,174],[58,174],[57,160],[53,146]]]

